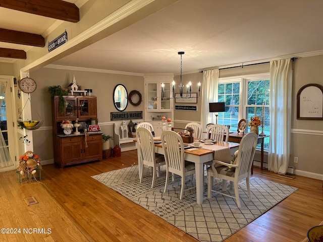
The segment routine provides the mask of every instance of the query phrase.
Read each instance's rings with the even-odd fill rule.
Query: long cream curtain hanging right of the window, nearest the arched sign
[[[268,170],[285,174],[290,156],[292,118],[291,59],[271,62],[270,68],[270,145]]]

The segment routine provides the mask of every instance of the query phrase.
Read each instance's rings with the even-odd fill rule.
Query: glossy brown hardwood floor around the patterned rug
[[[195,238],[104,186],[91,175],[137,164],[137,152],[64,169],[44,165],[41,183],[18,184],[15,171],[0,173],[1,241],[185,241]],[[254,168],[254,176],[299,188],[225,241],[301,241],[323,220],[322,181],[279,176]],[[38,204],[27,206],[24,198]],[[43,228],[47,233],[23,233]],[[48,232],[50,229],[50,233]],[[29,230],[30,231],[30,230]]]

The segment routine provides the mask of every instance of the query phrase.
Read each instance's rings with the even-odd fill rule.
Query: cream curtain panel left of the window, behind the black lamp
[[[215,124],[214,113],[208,110],[209,102],[218,101],[218,83],[219,69],[203,71],[202,83],[202,108],[201,108],[201,127],[206,130],[206,125],[209,123]]]

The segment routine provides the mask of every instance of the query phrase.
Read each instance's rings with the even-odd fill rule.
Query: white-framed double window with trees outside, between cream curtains
[[[237,132],[239,120],[247,123],[251,116],[259,116],[264,123],[264,133],[270,133],[270,79],[269,74],[256,74],[230,78],[219,78],[218,101],[225,102],[225,112],[220,112],[218,124],[230,125],[231,132]],[[246,132],[249,132],[247,127]],[[261,126],[259,126],[259,134]],[[268,150],[269,137],[264,140],[264,149]],[[259,146],[260,144],[258,144]],[[260,146],[259,146],[260,147]]]

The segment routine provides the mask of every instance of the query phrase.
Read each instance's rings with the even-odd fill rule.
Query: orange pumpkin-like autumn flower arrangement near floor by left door
[[[34,152],[27,151],[19,157],[17,172],[19,172],[23,178],[27,178],[28,181],[30,181],[32,177],[35,178],[36,169],[41,169],[41,164],[38,155]]]

